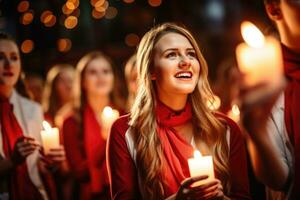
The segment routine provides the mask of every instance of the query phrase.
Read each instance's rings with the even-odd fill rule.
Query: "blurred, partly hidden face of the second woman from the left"
[[[59,73],[55,81],[55,89],[62,104],[72,99],[73,70],[64,70]]]

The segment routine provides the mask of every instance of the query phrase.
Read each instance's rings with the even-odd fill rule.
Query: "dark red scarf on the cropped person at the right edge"
[[[300,54],[282,45],[284,70],[288,79],[285,90],[285,124],[294,146],[295,185],[292,199],[300,199]]]

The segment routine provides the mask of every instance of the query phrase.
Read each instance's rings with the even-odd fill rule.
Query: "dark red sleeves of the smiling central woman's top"
[[[229,169],[232,187],[228,196],[232,199],[250,199],[243,136],[238,126],[231,119],[224,115],[218,115],[218,117],[225,119],[231,130]],[[137,169],[125,139],[126,131],[129,128],[128,120],[129,116],[126,115],[113,124],[108,141],[108,173],[113,199],[141,199]],[[170,167],[172,168],[172,166]],[[182,167],[184,168],[184,165]],[[188,170],[182,169],[182,171]],[[165,180],[169,181],[169,179]]]

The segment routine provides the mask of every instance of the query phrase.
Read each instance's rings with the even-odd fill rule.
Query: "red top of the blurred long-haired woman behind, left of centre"
[[[103,195],[109,187],[106,169],[106,140],[94,111],[86,106],[82,127],[76,115],[68,117],[62,128],[63,141],[72,174],[80,183],[80,198]],[[106,199],[106,198],[104,198]]]

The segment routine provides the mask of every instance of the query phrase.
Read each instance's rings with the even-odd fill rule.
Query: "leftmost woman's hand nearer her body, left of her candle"
[[[15,165],[23,163],[27,156],[32,154],[39,147],[40,145],[31,137],[18,138],[13,149],[12,162]]]

